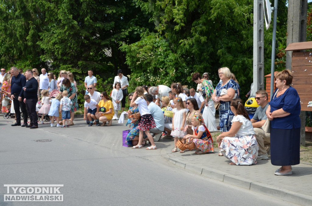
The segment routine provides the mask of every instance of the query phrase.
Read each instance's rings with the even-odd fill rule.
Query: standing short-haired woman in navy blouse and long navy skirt
[[[266,110],[271,120],[271,163],[281,166],[275,175],[292,175],[300,163],[300,98],[291,86],[293,74],[285,69],[275,75],[274,96]]]

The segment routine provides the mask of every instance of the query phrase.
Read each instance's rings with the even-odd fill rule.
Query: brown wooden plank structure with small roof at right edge
[[[292,51],[291,71],[294,75],[292,86],[300,96],[301,111],[312,111],[312,41],[290,43],[285,51]]]

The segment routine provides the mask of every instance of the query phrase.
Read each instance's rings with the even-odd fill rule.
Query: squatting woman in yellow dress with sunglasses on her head
[[[98,118],[103,124],[101,126],[104,126],[106,122],[108,122],[107,126],[110,126],[112,124],[112,118],[114,116],[114,111],[113,111],[113,103],[110,100],[110,96],[106,92],[101,93],[101,100],[98,103],[99,107],[105,107],[106,111],[105,112],[99,112],[95,114],[96,118]]]

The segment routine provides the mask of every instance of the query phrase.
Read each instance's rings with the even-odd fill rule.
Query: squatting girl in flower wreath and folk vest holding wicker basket
[[[186,139],[188,142],[192,141],[195,144],[197,148],[195,154],[206,154],[208,152],[214,152],[212,137],[205,125],[202,115],[194,114],[191,124],[192,125],[187,126],[192,127],[193,135],[187,134],[184,136],[184,139]]]

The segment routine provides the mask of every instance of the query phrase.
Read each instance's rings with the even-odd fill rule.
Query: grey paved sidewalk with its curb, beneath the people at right
[[[293,166],[293,175],[277,176],[274,171],[279,167],[271,165],[270,159],[257,160],[256,165],[237,166],[229,165],[230,160],[218,156],[217,148],[214,153],[202,155],[196,155],[194,151],[172,153],[172,148],[162,149],[161,156],[173,165],[288,202],[312,205],[311,164],[300,163]]]

